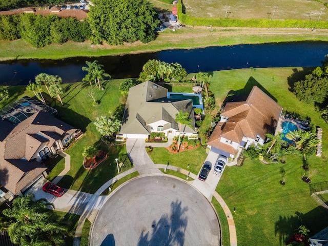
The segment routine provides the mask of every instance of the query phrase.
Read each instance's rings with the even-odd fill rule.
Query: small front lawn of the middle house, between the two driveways
[[[186,170],[188,170],[187,166],[189,163],[189,170],[197,175],[207,157],[207,154],[202,147],[198,147],[194,150],[183,151],[179,154],[172,154],[165,148],[154,148],[149,156],[155,164],[169,163],[171,166],[180,167]]]

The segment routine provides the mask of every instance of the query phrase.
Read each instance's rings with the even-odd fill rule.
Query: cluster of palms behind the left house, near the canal
[[[43,95],[42,95],[42,85],[45,85],[48,94],[51,97],[57,97],[60,101],[61,105],[63,105],[63,101],[61,100],[60,95],[63,95],[65,92],[65,87],[63,85],[63,81],[61,78],[56,75],[50,75],[46,73],[40,73],[35,77],[35,83],[29,83],[26,87],[28,91],[33,91],[34,95],[43,103],[46,103]]]

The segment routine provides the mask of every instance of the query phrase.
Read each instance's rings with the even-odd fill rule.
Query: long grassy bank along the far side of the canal
[[[320,8],[319,8],[320,10]],[[210,25],[210,23],[209,23]],[[33,48],[23,40],[12,42],[0,41],[0,60],[12,59],[61,59],[78,56],[106,56],[117,54],[153,52],[167,49],[190,49],[208,46],[226,46],[236,44],[259,44],[271,42],[292,42],[301,40],[326,40],[326,30],[301,29],[247,29],[218,28],[210,31],[203,28],[178,29],[175,32],[167,30],[159,33],[156,40],[142,44],[136,42],[119,46],[91,45],[68,42],[63,45],[49,45],[43,48]]]

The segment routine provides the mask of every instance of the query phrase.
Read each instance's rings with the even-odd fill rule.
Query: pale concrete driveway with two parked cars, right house
[[[210,152],[208,156],[206,157],[205,161],[209,161],[212,163],[211,172],[209,173],[207,179],[205,181],[201,181],[198,179],[199,173],[197,175],[197,179],[192,181],[192,185],[198,189],[209,201],[212,200],[213,193],[217,187],[218,182],[220,181],[220,178],[222,175],[217,175],[214,173],[214,165],[215,161],[218,157],[218,154],[214,152]],[[226,165],[227,166],[227,165]],[[226,166],[224,166],[224,169],[226,169]],[[224,171],[223,169],[223,171]],[[222,171],[222,173],[223,173]]]

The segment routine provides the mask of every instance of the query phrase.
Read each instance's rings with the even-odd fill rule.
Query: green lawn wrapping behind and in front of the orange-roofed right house
[[[328,132],[327,124],[314,106],[300,102],[289,91],[293,81],[304,74],[300,68],[242,69],[214,72],[210,90],[220,107],[227,95],[248,95],[254,85],[276,99],[284,110],[310,117]],[[308,157],[316,170],[312,183],[326,181],[328,139],[323,136],[321,158]],[[328,211],[310,197],[309,185],[301,180],[302,158],[286,156],[286,164],[263,165],[246,159],[242,167],[228,167],[219,182],[217,192],[230,209],[236,207],[234,220],[238,245],[284,245],[294,229],[303,223],[315,234],[328,226]],[[286,185],[281,186],[279,168],[286,171]]]

